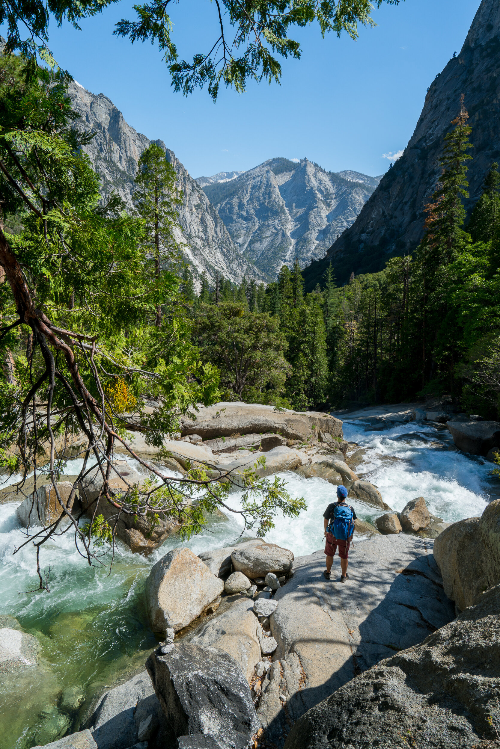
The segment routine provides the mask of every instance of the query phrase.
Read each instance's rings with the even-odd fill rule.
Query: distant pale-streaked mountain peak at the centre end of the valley
[[[325,172],[307,159],[296,164],[278,158],[205,192],[240,251],[276,276],[295,258],[302,267],[321,258],[378,183],[358,172]]]

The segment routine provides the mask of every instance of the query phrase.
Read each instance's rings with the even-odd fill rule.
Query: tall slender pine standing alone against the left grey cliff
[[[143,151],[137,164],[135,179],[137,189],[134,202],[137,213],[144,219],[145,245],[154,259],[154,278],[160,281],[163,260],[172,259],[178,252],[174,228],[178,223],[176,206],[182,202],[182,193],[175,187],[175,169],[166,160],[166,154],[156,143]],[[157,300],[155,324],[161,324],[161,299]]]

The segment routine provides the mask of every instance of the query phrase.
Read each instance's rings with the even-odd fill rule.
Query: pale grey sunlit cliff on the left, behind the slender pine
[[[100,175],[103,196],[115,189],[131,208],[137,161],[151,140],[130,127],[104,94],[96,96],[76,83],[70,86],[69,94],[73,109],[81,116],[77,127],[95,133],[85,151]],[[233,282],[240,282],[244,273],[263,279],[263,274],[235,247],[217,210],[173,151],[169,151],[163,141],[154,142],[165,149],[184,195],[176,238],[183,246],[187,261],[199,274],[206,270],[211,278],[218,270]]]

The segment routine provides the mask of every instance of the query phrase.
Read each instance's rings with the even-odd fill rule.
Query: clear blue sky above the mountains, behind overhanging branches
[[[460,51],[480,0],[406,0],[373,11],[376,28],[357,41],[310,26],[290,34],[301,61],[283,61],[282,85],[250,83],[245,94],[221,89],[175,94],[166,64],[150,43],[112,36],[115,22],[133,18],[132,2],[116,3],[81,23],[49,28],[61,67],[94,94],[106,94],[129,124],[161,138],[193,177],[251,169],[271,157],[307,157],[334,172],[379,175],[384,154],[405,148],[427,86],[454,50]],[[215,4],[180,0],[172,7],[181,58],[217,38]],[[1,31],[1,28],[0,28]],[[211,44],[210,44],[211,46]],[[458,106],[458,103],[457,103]]]

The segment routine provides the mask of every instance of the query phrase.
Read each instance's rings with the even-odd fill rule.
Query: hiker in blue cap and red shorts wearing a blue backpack
[[[335,551],[339,548],[340,568],[342,575],[340,582],[345,583],[349,579],[347,565],[349,557],[349,545],[355,529],[356,513],[346,503],[347,489],[345,486],[337,487],[337,502],[328,505],[323,518],[325,518],[325,554],[326,569],[323,577],[330,580],[331,565],[334,563]]]

